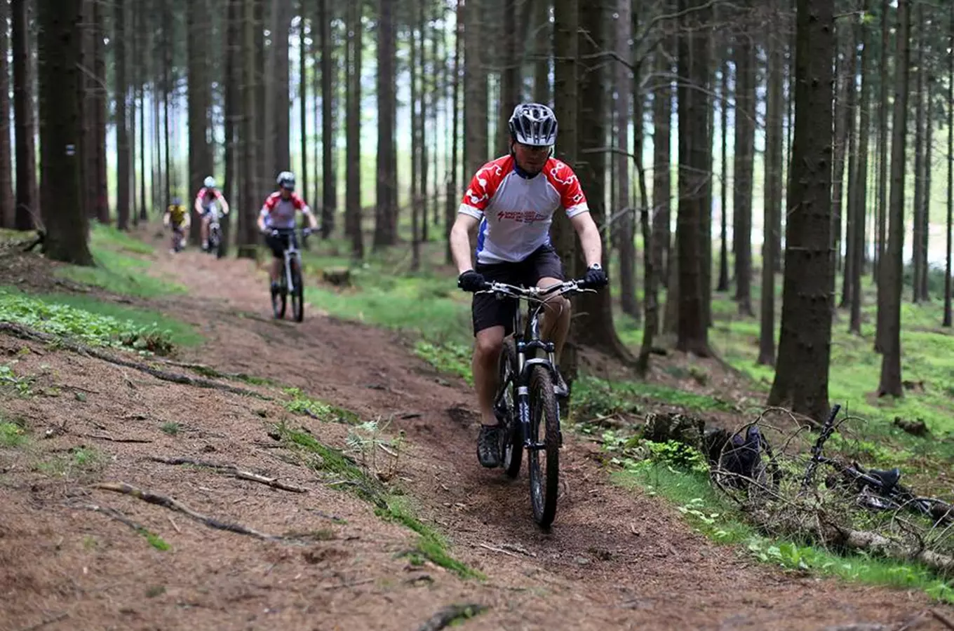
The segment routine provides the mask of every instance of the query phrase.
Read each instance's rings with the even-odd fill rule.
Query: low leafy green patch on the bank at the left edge
[[[33,296],[2,287],[0,321],[17,322],[91,345],[125,346],[158,355],[168,354],[174,343],[201,341],[188,325],[156,312],[114,305],[88,296]]]

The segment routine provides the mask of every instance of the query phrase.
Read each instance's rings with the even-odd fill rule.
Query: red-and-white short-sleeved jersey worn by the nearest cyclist
[[[458,213],[481,219],[477,262],[518,262],[550,243],[553,213],[587,213],[590,207],[570,165],[547,160],[543,173],[521,177],[510,155],[487,162],[464,193]]]

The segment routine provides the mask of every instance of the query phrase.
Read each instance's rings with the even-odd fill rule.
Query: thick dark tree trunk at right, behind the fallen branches
[[[769,405],[828,416],[832,270],[833,3],[798,0],[795,138],[785,224],[785,279]]]

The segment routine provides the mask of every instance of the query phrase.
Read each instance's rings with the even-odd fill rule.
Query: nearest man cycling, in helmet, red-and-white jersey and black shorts
[[[510,153],[488,162],[473,176],[450,231],[450,249],[460,273],[458,287],[477,292],[485,289],[487,280],[538,287],[562,282],[563,266],[550,244],[550,223],[560,208],[579,234],[587,283],[605,286],[602,242],[586,196],[570,166],[552,156],[556,116],[546,105],[522,103],[514,108],[508,128]],[[469,234],[478,226],[474,267]],[[490,294],[474,295],[471,304],[471,369],[481,412],[477,458],[485,467],[500,466],[503,433],[493,398],[504,337],[512,333],[517,307],[513,298],[501,300]],[[553,340],[557,362],[569,330],[570,301],[554,296],[548,301],[541,333]],[[553,390],[558,397],[569,394],[559,371]]]

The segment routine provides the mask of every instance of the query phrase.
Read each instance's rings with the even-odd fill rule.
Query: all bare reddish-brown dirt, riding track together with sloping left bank
[[[928,604],[915,592],[782,573],[713,545],[663,502],[612,485],[592,448],[572,436],[561,454],[566,485],[556,521],[542,533],[529,514],[526,474],[510,482],[477,464],[469,389],[438,378],[399,336],[321,315],[320,305],[307,305],[301,324],[270,321],[264,275],[250,261],[162,253],[154,270],[190,288],[187,296],[158,301],[161,307],[197,323],[208,338],[184,359],[300,386],[364,418],[393,416],[393,429],[407,437],[400,486],[420,517],[452,541],[450,553],[487,580],[409,564],[401,553],[413,547],[414,533],[320,483],[269,444],[266,427],[285,418],[342,446],[345,426],[291,416],[277,402],[160,382],[0,336],[0,352],[20,354],[18,370],[46,371],[40,381],[97,393],[81,402],[62,388],[61,397],[11,401],[9,408],[40,433],[67,423],[62,436],[37,448],[53,457],[67,453],[57,449],[93,444],[108,455],[93,472],[51,480],[31,471],[26,457],[4,459],[0,452],[0,628],[47,620],[49,629],[416,629],[447,604],[474,602],[489,609],[467,621],[468,629],[893,625],[887,629]],[[44,355],[23,355],[24,346]],[[158,431],[173,420],[182,425],[176,436]],[[235,463],[310,491],[277,491],[149,456]],[[215,531],[91,490],[89,482],[100,479],[175,496],[260,531],[320,531],[328,540],[262,542]],[[90,504],[118,508],[172,549],[160,552],[128,526],[76,507]],[[58,615],[65,617],[54,621]],[[925,621],[918,628],[944,627]]]

